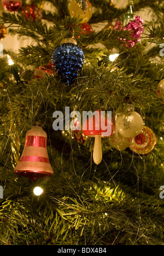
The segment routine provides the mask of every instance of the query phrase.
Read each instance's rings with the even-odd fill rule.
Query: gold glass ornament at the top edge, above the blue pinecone
[[[83,1],[83,8],[82,5],[73,0],[71,3],[69,3],[68,9],[72,18],[79,16],[80,19],[83,19],[81,23],[89,21],[92,17],[92,4],[88,0]]]

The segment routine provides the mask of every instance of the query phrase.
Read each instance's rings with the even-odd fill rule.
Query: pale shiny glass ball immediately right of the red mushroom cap
[[[122,136],[133,138],[142,131],[143,119],[135,111],[128,116],[121,113],[116,115],[115,126]]]

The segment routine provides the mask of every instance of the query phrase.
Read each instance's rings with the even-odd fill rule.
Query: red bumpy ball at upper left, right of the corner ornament
[[[42,11],[34,4],[25,6],[22,9],[22,13],[24,14],[24,17],[28,19],[28,21],[30,21],[31,18],[33,21],[42,20]]]

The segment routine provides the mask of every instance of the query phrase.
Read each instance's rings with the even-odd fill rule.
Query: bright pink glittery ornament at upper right
[[[133,39],[127,40],[126,38],[120,38],[122,45],[126,48],[133,48],[136,43],[140,41],[140,37],[144,31],[143,19],[140,16],[134,16],[134,20],[128,22],[126,26],[122,25],[122,22],[118,19],[115,22],[114,30],[128,30],[131,31],[131,37]]]

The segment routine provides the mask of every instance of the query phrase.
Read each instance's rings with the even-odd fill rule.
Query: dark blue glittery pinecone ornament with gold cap
[[[74,39],[63,39],[52,54],[52,63],[63,84],[74,83],[84,64],[83,50]]]

